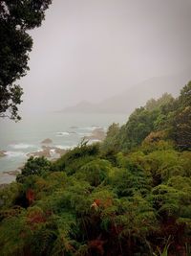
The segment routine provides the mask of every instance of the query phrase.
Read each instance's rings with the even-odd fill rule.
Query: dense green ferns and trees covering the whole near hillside
[[[0,255],[191,255],[191,82],[101,144],[30,158],[0,191]]]

